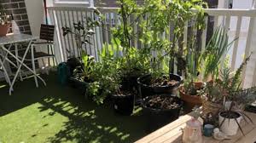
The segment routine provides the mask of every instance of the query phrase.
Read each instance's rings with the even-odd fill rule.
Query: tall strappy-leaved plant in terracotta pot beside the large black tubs
[[[194,38],[192,40],[195,41]],[[191,112],[194,106],[202,105],[200,93],[201,89],[204,89],[207,84],[202,81],[210,82],[218,77],[221,59],[230,49],[236,38],[230,43],[228,40],[227,31],[221,26],[218,26],[202,53],[195,51],[195,48],[193,48],[195,43],[192,42],[192,48],[187,52],[186,78],[183,86],[179,90],[180,97],[184,101],[187,112]],[[201,77],[204,79],[200,80]]]

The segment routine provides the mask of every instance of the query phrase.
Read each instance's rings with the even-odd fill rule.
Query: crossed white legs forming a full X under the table
[[[19,72],[20,72],[21,66],[25,66],[27,70],[29,70],[30,72],[32,72],[32,73],[34,74],[34,76],[37,76],[37,77],[44,83],[44,85],[46,85],[46,83],[44,82],[44,79],[43,79],[42,77],[38,76],[36,72],[32,71],[32,69],[31,69],[30,67],[28,67],[28,66],[26,66],[26,64],[24,64],[24,60],[25,60],[25,58],[26,58],[26,54],[27,54],[28,50],[30,49],[31,43],[32,43],[32,41],[30,41],[30,43],[28,44],[28,46],[27,46],[27,48],[26,48],[26,51],[25,51],[25,54],[23,55],[22,60],[20,60],[18,57],[15,57],[14,54],[12,54],[9,50],[7,50],[7,49],[5,49],[5,48],[3,47],[3,50],[5,50],[6,52],[8,52],[8,54],[10,54],[11,56],[13,56],[13,57],[15,58],[15,60],[18,60],[18,61],[20,62],[20,66],[18,67],[18,70],[17,70],[17,72],[16,72],[16,74],[15,74],[15,77],[14,77],[14,79],[13,79],[13,82],[11,83],[11,87],[10,87],[10,89],[9,89],[9,94],[11,94],[11,89],[13,88],[13,86],[14,86],[14,84],[15,84],[15,80],[16,80],[16,78],[18,77],[18,74],[19,74]]]

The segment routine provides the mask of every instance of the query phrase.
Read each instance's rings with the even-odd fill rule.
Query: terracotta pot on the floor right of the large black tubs
[[[202,82],[194,83],[196,89],[200,89],[203,86],[203,84],[204,83]],[[180,95],[180,98],[184,101],[185,112],[191,112],[195,106],[202,105],[201,97],[197,95],[186,94],[184,87],[181,87],[179,89],[179,95]]]

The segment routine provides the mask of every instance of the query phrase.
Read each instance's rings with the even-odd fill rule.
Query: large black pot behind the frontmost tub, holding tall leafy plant
[[[152,86],[149,85],[151,80],[151,75],[148,74],[143,77],[139,77],[137,79],[137,83],[139,86],[139,94],[142,98],[145,98],[147,96],[151,96],[153,94],[176,94],[177,88],[180,86],[180,84],[183,81],[183,78],[177,74],[170,73],[170,79],[176,80],[177,83],[170,86]]]

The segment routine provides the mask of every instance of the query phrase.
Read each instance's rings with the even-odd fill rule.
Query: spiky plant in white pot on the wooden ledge
[[[247,65],[249,58],[250,56],[244,60],[233,77],[230,77],[230,68],[224,67],[221,74],[222,81],[218,83],[224,95],[224,108],[218,113],[218,124],[220,130],[227,135],[235,135],[238,129],[244,134],[240,125],[241,118],[247,123],[253,123],[252,119],[243,110],[247,104],[253,103],[256,100],[256,95],[240,88],[241,72],[243,67]]]

